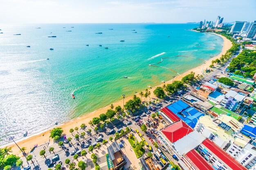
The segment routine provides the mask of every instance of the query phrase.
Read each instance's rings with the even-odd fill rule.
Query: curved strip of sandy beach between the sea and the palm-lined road
[[[198,31],[196,31],[196,32],[198,32]],[[195,75],[198,75],[198,74],[201,75],[203,69],[207,68],[207,67],[209,67],[209,65],[211,65],[211,61],[212,60],[216,60],[217,58],[220,58],[222,54],[225,54],[226,51],[231,48],[232,43],[231,43],[230,40],[228,40],[227,38],[225,38],[222,35],[219,35],[219,34],[216,34],[216,33],[213,33],[213,34],[218,35],[218,36],[220,36],[223,39],[222,51],[218,55],[216,55],[215,57],[212,57],[209,60],[205,61],[205,64],[201,64],[200,66],[192,68],[192,69],[186,71],[185,73],[182,73],[181,75],[177,75],[174,79],[171,79],[171,80],[167,81],[166,84],[171,83],[173,80],[181,80],[182,77],[184,77],[185,75],[188,75],[191,71],[193,71],[195,73]],[[161,83],[158,86],[162,86],[163,84],[164,83]],[[151,95],[150,95],[151,99],[155,99],[153,91],[158,86],[155,86],[155,87],[152,87],[152,88],[148,89],[151,92]],[[138,93],[135,94],[135,95],[138,96]],[[124,99],[124,102],[127,102],[129,99],[132,99],[132,96],[126,97]],[[118,105],[122,107],[123,106],[123,100],[120,99],[119,101],[113,103],[113,105],[115,107],[118,106]],[[66,122],[64,122],[62,124],[58,124],[57,126],[52,126],[50,128],[47,128],[47,129],[42,130],[40,132],[37,132],[35,134],[29,135],[29,136],[27,136],[25,138],[23,137],[21,139],[18,139],[18,140],[16,140],[16,143],[20,147],[26,147],[27,150],[29,150],[29,148],[32,148],[35,144],[38,144],[38,146],[39,146],[39,145],[45,144],[45,143],[47,143],[49,141],[52,142],[53,139],[49,138],[50,130],[52,128],[61,127],[63,129],[63,134],[69,134],[70,133],[69,132],[70,128],[74,128],[75,126],[80,127],[80,125],[82,123],[86,124],[87,126],[90,126],[89,125],[89,121],[92,120],[93,117],[98,117],[101,113],[106,113],[106,110],[108,110],[108,109],[110,109],[110,105],[106,106],[106,107],[103,107],[103,108],[99,108],[98,110],[95,110],[92,113],[88,113],[86,115],[82,115],[82,116],[77,117],[75,119],[66,121]],[[19,148],[13,142],[4,144],[4,145],[0,146],[0,148],[6,147],[6,146],[12,147],[12,151],[13,151],[12,153],[13,154],[19,155],[20,150],[19,150]]]

